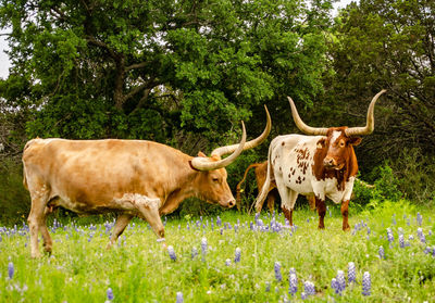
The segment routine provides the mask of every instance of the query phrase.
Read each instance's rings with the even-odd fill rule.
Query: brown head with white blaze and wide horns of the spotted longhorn
[[[318,153],[322,164],[326,169],[341,169],[346,163],[353,156],[353,146],[361,142],[361,138],[357,136],[370,135],[374,129],[374,105],[382,93],[381,90],[369,105],[366,115],[366,125],[364,127],[311,127],[306,125],[300,118],[296,105],[291,98],[288,101],[291,106],[291,115],[297,127],[307,135],[326,136],[318,141]],[[319,161],[320,159],[318,159]]]

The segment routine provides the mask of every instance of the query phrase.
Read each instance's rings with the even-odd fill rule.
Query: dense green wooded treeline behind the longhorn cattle
[[[20,156],[36,136],[148,139],[194,155],[237,141],[240,119],[258,136],[262,104],[269,141],[299,132],[286,96],[312,126],[363,125],[383,88],[357,148],[360,178],[387,165],[402,197],[434,203],[434,1],[361,0],[335,18],[332,3],[1,0],[12,67],[0,80],[0,213],[28,207]],[[228,167],[232,188],[269,141]]]

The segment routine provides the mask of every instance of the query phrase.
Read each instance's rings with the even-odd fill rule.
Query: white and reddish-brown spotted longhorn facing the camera
[[[268,177],[256,201],[259,212],[276,182],[285,217],[293,225],[293,210],[298,194],[314,194],[319,213],[319,228],[324,228],[325,199],[341,203],[343,230],[349,230],[348,206],[358,173],[353,146],[361,142],[357,136],[370,135],[374,129],[374,105],[385,90],[380,91],[369,105],[364,127],[314,128],[300,118],[291,98],[293,118],[307,135],[286,135],[274,138],[269,148]]]

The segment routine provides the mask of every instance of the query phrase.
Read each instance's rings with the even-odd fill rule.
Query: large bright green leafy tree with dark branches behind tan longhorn
[[[0,96],[30,110],[30,137],[221,140],[263,122],[262,103],[288,113],[285,94],[322,91],[330,0],[0,3],[13,59]]]

